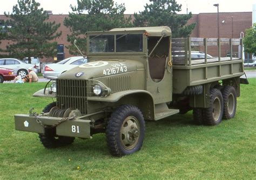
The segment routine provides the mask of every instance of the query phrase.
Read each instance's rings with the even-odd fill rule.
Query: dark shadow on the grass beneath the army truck
[[[194,131],[194,128],[198,128],[198,126],[193,123],[192,118],[192,113],[188,112],[187,114],[177,114],[158,121],[146,121],[144,146],[147,146],[147,142],[151,143],[151,141],[158,143],[155,139],[161,139],[161,141],[169,141],[170,137],[175,139],[175,137],[179,135],[179,132],[190,135],[191,131]],[[151,138],[152,136],[154,136],[153,139]],[[45,151],[46,153],[43,153]],[[50,153],[58,156],[82,153],[85,156],[84,158],[89,156],[111,156],[107,148],[104,133],[95,134],[92,139],[76,138],[72,145],[66,147],[56,149],[45,149],[42,147],[42,151],[40,152],[41,155]]]

